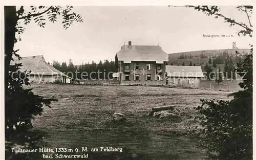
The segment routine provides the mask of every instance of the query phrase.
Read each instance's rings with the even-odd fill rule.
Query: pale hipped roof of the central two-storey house
[[[163,64],[168,61],[168,54],[158,45],[123,45],[116,54],[119,61],[156,61]]]

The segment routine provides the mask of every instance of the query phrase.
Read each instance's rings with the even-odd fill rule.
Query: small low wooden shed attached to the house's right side
[[[201,66],[166,65],[166,83],[170,86],[199,88],[203,78]]]

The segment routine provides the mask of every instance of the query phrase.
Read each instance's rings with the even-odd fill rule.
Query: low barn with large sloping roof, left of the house
[[[43,55],[22,57],[13,57],[14,61],[11,64],[22,63],[23,66],[20,67],[20,71],[31,71],[29,74],[29,79],[31,82],[35,83],[53,83],[56,81],[61,81],[62,83],[77,83],[77,80],[71,78],[62,72],[58,71],[52,65],[48,64]]]

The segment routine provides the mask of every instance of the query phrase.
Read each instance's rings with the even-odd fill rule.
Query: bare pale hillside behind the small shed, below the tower
[[[185,65],[189,65],[190,61],[192,62],[192,64],[194,65],[194,63],[196,65],[205,65],[205,63],[208,62],[209,57],[212,56],[217,56],[220,53],[223,53],[224,51],[226,51],[229,55],[234,55],[236,53],[236,51],[238,51],[239,53],[249,53],[250,49],[223,49],[223,50],[201,50],[201,51],[190,51],[190,52],[179,52],[179,53],[170,53],[169,55],[169,63],[172,63],[174,65],[182,65],[182,62],[185,63]],[[181,55],[191,55],[193,56],[193,58],[189,59],[178,59]],[[204,54],[205,56],[207,56],[208,58],[201,58],[200,55]]]

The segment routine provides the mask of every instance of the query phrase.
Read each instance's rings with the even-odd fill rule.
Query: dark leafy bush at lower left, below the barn
[[[21,63],[11,65],[8,76],[8,90],[5,95],[5,140],[7,159],[29,159],[36,154],[13,154],[11,148],[33,148],[39,145],[44,134],[32,130],[31,119],[41,115],[43,105],[50,107],[51,101],[34,95],[30,89],[24,89],[23,85],[30,85],[28,74],[20,72]]]

